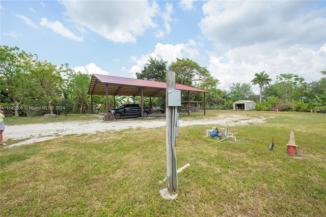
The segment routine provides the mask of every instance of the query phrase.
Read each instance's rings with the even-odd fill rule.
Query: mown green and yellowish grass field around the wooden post
[[[0,216],[326,216],[326,114],[208,111],[205,118],[217,114],[270,118],[231,126],[236,142],[205,137],[225,126],[180,127],[177,165],[191,166],[178,174],[175,200],[159,195],[167,188],[165,128],[2,147]],[[291,131],[297,158],[286,154]]]

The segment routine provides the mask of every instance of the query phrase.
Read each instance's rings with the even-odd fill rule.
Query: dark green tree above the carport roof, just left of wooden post
[[[165,82],[167,80],[168,61],[153,59],[151,56],[148,61],[149,63],[144,66],[142,72],[136,73],[137,79]]]

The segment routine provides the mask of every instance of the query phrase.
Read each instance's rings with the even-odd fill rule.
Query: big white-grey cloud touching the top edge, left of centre
[[[152,20],[158,5],[147,1],[61,1],[70,21],[86,26],[102,37],[120,43],[135,43],[136,36],[156,26]],[[151,3],[151,4],[150,4]]]

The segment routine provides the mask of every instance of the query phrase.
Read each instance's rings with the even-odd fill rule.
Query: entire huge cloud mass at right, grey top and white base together
[[[248,83],[265,71],[275,82],[280,74],[296,74],[306,82],[321,78],[326,67],[325,11],[311,1],[208,1],[199,26],[212,41],[211,74],[219,88]],[[259,87],[253,86],[258,94]]]

